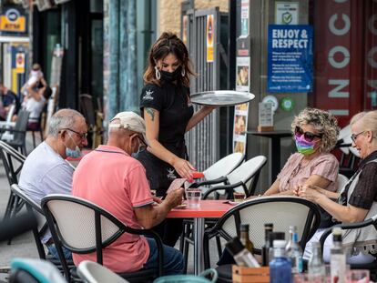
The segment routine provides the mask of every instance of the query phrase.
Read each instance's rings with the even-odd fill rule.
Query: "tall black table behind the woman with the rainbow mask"
[[[290,137],[292,133],[288,130],[276,130],[272,132],[258,132],[255,130],[247,131],[246,134],[253,136],[269,137],[270,142],[270,184],[272,184],[280,172],[280,139]]]

